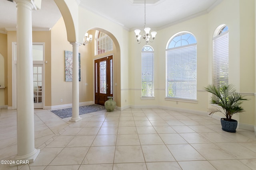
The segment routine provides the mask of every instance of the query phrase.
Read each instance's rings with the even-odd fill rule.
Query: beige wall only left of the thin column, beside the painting
[[[72,103],[72,82],[65,82],[64,51],[72,51],[72,45],[67,40],[67,33],[63,18],[51,29],[51,75],[52,75],[52,103],[50,106]],[[60,100],[63,102],[60,102]]]

